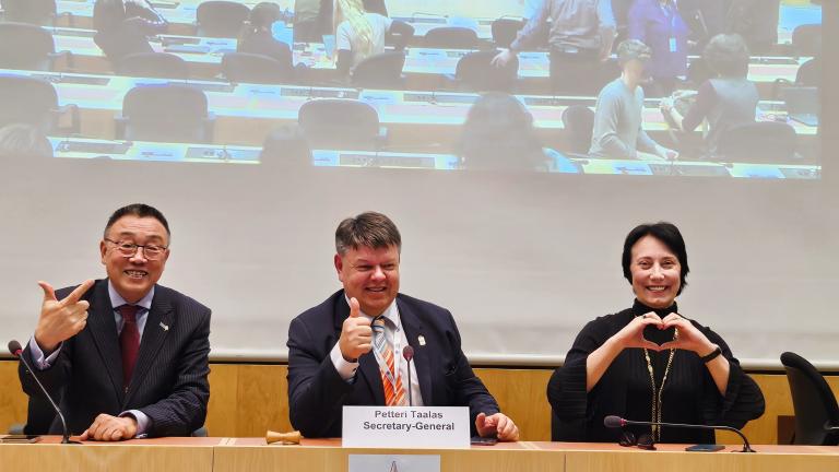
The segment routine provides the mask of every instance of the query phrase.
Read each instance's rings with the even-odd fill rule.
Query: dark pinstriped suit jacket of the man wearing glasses
[[[61,299],[73,288],[56,295]],[[107,280],[96,281],[82,297],[91,304],[87,326],[62,343],[51,367],[37,373],[52,398],[60,399],[72,434],[84,432],[99,413],[116,416],[127,410],[149,416],[150,436],[189,436],[204,424],[210,399],[210,309],[172,288],[156,285],[154,290],[128,392],[122,388],[122,357]],[[23,355],[34,363],[28,345]],[[27,394],[40,396],[23,363],[19,376]],[[61,433],[58,418],[50,433]]]

